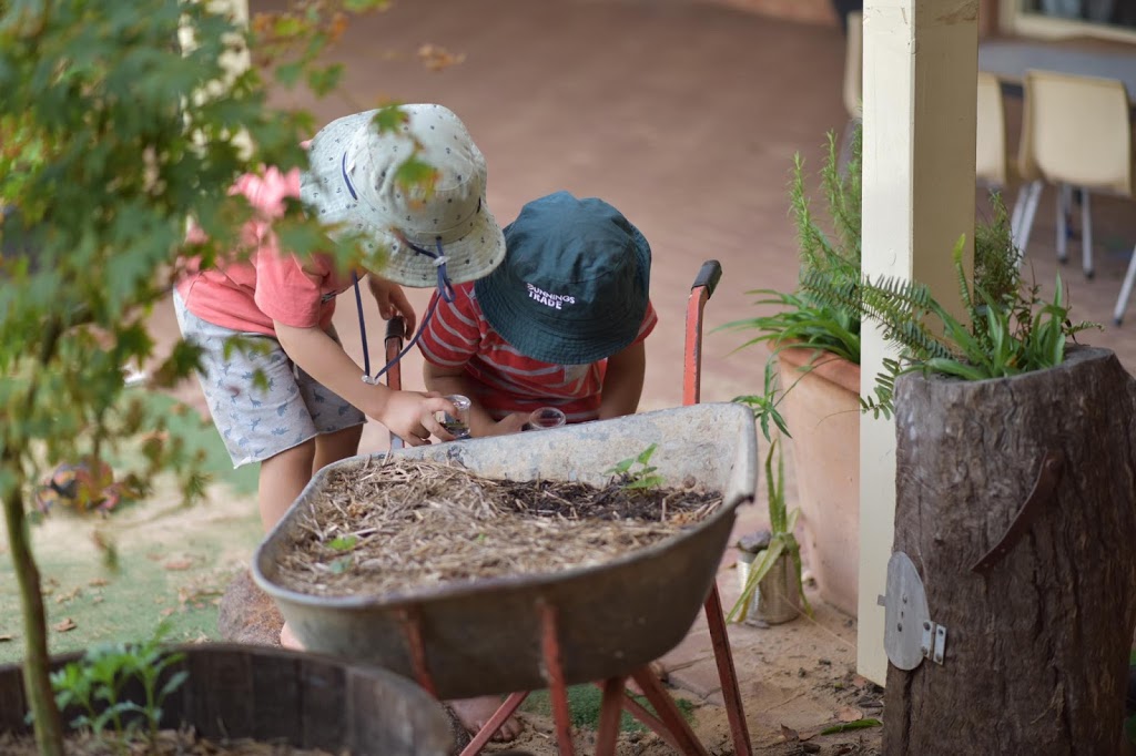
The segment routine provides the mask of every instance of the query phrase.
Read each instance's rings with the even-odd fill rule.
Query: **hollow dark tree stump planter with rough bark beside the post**
[[[1009,379],[907,376],[895,430],[893,548],[947,635],[942,665],[888,665],[884,753],[1116,753],[1136,625],[1136,381],[1088,347]],[[1050,496],[1047,455],[1063,462]]]

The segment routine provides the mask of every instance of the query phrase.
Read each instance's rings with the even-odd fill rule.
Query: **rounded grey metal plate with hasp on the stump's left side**
[[[913,670],[925,658],[943,663],[946,628],[930,619],[919,571],[903,552],[895,552],[887,562],[887,594],[878,603],[884,607],[884,650],[888,662],[901,670]]]

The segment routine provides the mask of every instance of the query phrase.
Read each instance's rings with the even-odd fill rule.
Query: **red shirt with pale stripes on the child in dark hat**
[[[437,310],[418,341],[427,362],[441,368],[465,367],[477,401],[494,418],[510,412],[531,412],[541,406],[559,408],[568,422],[599,417],[607,360],[585,366],[540,362],[506,342],[482,313],[473,282],[454,286],[453,302],[438,300]],[[651,303],[640,325],[635,344],[646,338],[658,322]]]

